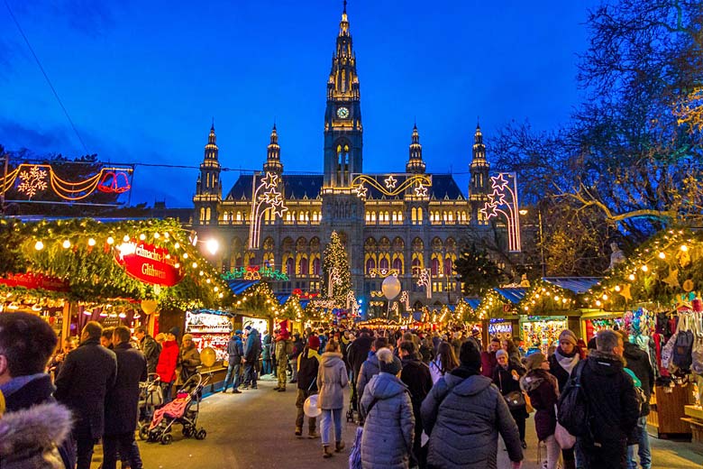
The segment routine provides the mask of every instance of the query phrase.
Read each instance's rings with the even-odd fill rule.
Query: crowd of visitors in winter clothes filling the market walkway
[[[88,322],[79,341],[67,339],[56,351],[57,336],[40,317],[0,315],[3,467],[88,469],[102,438],[103,468],[118,460],[141,468],[134,438],[140,382],[158,376],[168,401],[174,384],[200,365],[193,337],[182,336],[179,345],[178,335],[177,327],[155,338],[137,327],[133,343],[125,326]],[[653,370],[646,353],[618,331],[601,331],[586,345],[563,330],[548,355],[525,356],[517,339],[491,338],[484,349],[477,330],[307,328],[291,334],[284,322],[270,335],[251,326],[234,331],[227,352],[224,392],[256,389],[260,373],[276,377],[275,391],[296,386],[297,437],[304,437],[305,402],[317,395],[319,433],[318,418],[307,417],[306,437],[320,438],[324,458],[345,448],[349,387],[347,418],[360,426],[351,458],[358,467],[491,468],[503,448],[517,468],[531,415],[548,469],[560,463],[565,469],[636,468],[636,459],[643,468],[652,464],[645,422]],[[575,381],[589,418],[569,447],[558,438],[557,416],[570,410],[560,395]],[[11,423],[33,427],[8,437],[3,431]],[[28,465],[32,458],[44,465]]]

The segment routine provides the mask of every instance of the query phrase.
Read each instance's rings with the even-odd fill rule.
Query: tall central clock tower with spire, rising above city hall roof
[[[359,77],[352,50],[347,7],[344,2],[337,48],[327,80],[324,112],[324,192],[349,188],[352,174],[362,171],[362,132]]]

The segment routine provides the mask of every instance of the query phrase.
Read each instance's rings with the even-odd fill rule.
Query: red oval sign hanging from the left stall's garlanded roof
[[[173,287],[183,280],[178,259],[168,249],[153,244],[133,240],[120,244],[114,248],[114,260],[129,276],[144,283]]]

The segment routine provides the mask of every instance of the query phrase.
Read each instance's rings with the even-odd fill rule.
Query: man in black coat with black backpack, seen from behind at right
[[[576,437],[584,469],[625,469],[627,437],[637,425],[641,403],[625,372],[622,337],[604,330],[596,345],[571,374],[559,401],[559,421]],[[574,418],[580,415],[585,417]]]

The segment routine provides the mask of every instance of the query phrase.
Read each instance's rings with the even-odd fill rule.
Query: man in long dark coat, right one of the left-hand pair
[[[131,469],[142,469],[142,457],[134,440],[139,409],[139,382],[147,379],[144,354],[130,345],[131,333],[126,326],[113,331],[117,377],[105,399],[105,435],[103,436],[103,469],[114,469],[117,454],[128,461]]]

